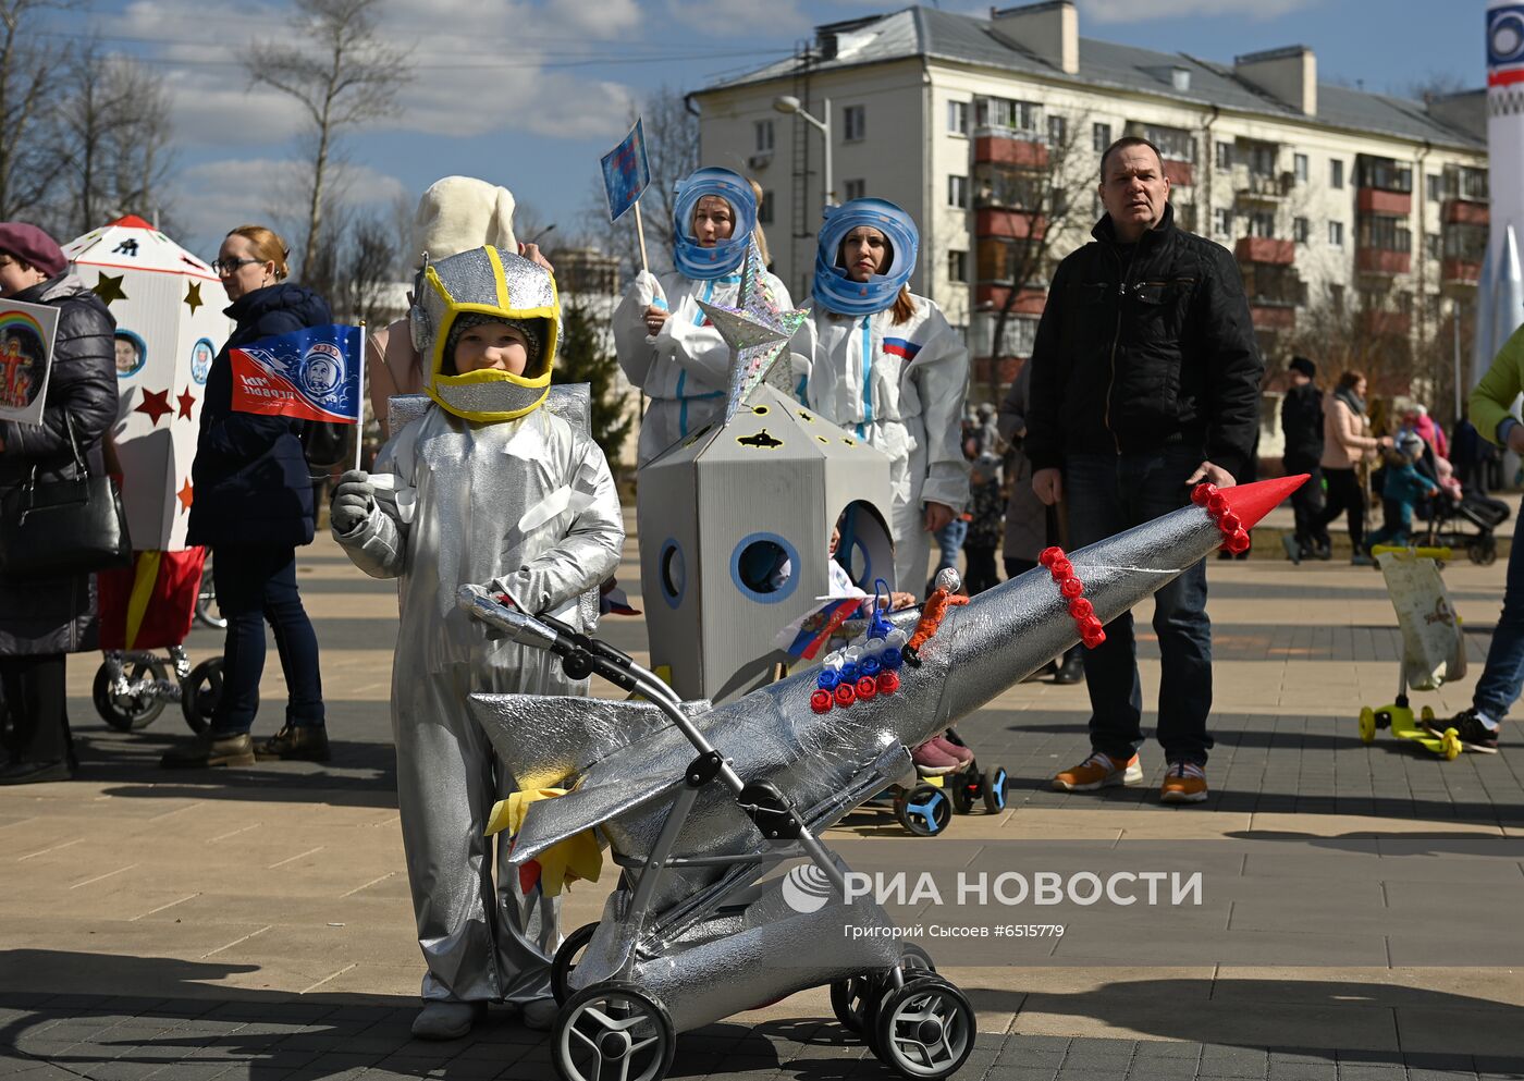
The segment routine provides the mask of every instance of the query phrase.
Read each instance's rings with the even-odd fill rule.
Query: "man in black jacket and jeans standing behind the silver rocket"
[[[1158,148],[1125,137],[1100,159],[1106,217],[1065,258],[1032,349],[1027,456],[1044,503],[1065,500],[1074,547],[1184,506],[1190,489],[1242,476],[1259,424],[1263,361],[1233,256],[1178,229]],[[1161,654],[1160,797],[1207,797],[1212,624],[1205,561],[1154,595]],[[1141,784],[1132,616],[1085,654],[1091,756],[1062,791]]]

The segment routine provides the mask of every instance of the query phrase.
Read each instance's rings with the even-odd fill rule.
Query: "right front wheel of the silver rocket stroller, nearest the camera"
[[[873,1054],[907,1078],[945,1078],[974,1049],[974,1008],[940,976],[908,980],[879,1000]]]

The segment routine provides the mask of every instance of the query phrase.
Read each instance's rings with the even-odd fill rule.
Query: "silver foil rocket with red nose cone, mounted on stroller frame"
[[[1049,549],[1039,567],[963,604],[939,589],[817,669],[725,706],[683,703],[681,723],[654,701],[472,694],[472,715],[521,788],[568,790],[527,808],[511,863],[597,828],[623,868],[664,868],[642,875],[634,903],[623,889],[610,897],[568,990],[623,980],[655,997],[681,1032],[869,967],[846,953],[843,921],[881,912],[853,910],[829,889],[818,903],[789,900],[789,880],[757,883],[759,868],[779,849],[786,855],[800,825],[818,834],[913,776],[908,747],[1076,642],[1099,643],[1106,624],[1213,549],[1245,547],[1247,531],[1305,480],[1201,485],[1187,506],[1067,557]],[[491,598],[463,596],[462,607],[568,668],[639,683],[622,675],[636,674],[629,659],[600,643],[562,651],[561,631]],[[710,750],[695,758],[700,743]],[[716,775],[724,784],[712,784]]]

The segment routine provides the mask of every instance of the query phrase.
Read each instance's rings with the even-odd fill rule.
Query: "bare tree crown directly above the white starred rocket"
[[[122,213],[158,220],[171,139],[163,76],[91,41],[69,64],[62,91],[59,220],[70,233]]]

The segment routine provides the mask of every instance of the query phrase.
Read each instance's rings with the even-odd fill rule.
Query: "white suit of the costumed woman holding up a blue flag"
[[[773,296],[792,308],[788,288],[768,274]],[[640,421],[639,464],[725,413],[730,346],[713,328],[700,300],[735,306],[741,274],[695,281],[680,273],[640,271],[614,310],[614,349],[631,383],[651,399]],[[646,308],[664,305],[672,316],[655,337],[646,334]]]

